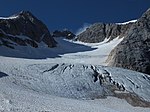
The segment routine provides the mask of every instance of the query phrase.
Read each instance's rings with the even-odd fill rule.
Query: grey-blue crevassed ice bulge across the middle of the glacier
[[[132,71],[64,63],[19,65],[16,69],[3,67],[3,70],[10,74],[9,82],[51,95],[93,99],[112,95],[112,86],[150,101],[150,77]]]

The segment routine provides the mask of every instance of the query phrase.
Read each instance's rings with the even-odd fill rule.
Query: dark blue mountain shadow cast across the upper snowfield
[[[95,50],[96,48],[91,48],[82,44],[77,44],[64,40],[63,38],[55,38],[57,41],[57,47],[25,47],[19,46],[15,49],[10,49],[6,47],[0,47],[0,56],[15,57],[15,58],[27,58],[27,59],[46,59],[46,58],[56,58],[61,57],[61,55],[68,53],[86,52]]]

